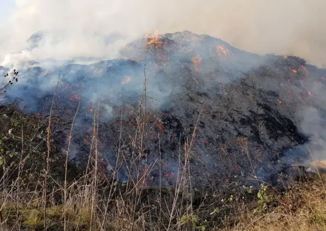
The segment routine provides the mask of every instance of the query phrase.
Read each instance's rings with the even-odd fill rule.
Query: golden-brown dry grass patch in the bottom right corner
[[[326,176],[315,176],[306,182],[294,183],[279,199],[279,205],[264,214],[255,214],[243,207],[237,227],[226,230],[326,230],[326,195],[322,184]]]

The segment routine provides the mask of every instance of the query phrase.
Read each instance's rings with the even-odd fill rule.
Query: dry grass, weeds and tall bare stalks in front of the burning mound
[[[326,176],[303,177],[282,191],[193,188],[189,142],[175,188],[145,187],[148,172],[120,183],[113,180],[118,166],[112,176],[100,170],[96,126],[88,162],[76,167],[56,123],[0,107],[0,218],[8,230],[326,230]],[[139,126],[135,153],[142,132]]]

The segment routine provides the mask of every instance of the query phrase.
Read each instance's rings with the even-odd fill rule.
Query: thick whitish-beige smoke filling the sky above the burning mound
[[[146,32],[189,30],[221,38],[257,53],[294,54],[326,66],[326,2],[322,0],[16,0],[16,10],[0,36],[3,65],[40,58],[115,57],[119,48]],[[64,39],[53,48],[8,55],[40,30]],[[112,33],[126,37],[107,43]],[[7,56],[6,56],[7,55]]]

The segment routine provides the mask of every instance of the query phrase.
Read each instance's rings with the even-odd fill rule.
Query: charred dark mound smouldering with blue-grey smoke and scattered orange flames
[[[268,180],[270,174],[309,159],[301,145],[309,142],[313,131],[305,134],[302,111],[326,109],[326,70],[299,57],[261,56],[188,31],[146,35],[120,55],[120,60],[92,65],[25,70],[24,86],[9,97],[20,92],[25,103],[34,103],[33,113],[49,108],[61,72],[55,111],[66,126],[83,88],[72,153],[79,160],[88,155],[100,102],[95,116],[100,118],[102,164],[110,174],[118,161],[122,181],[137,160],[147,173],[146,184],[156,185],[161,179],[162,185],[174,185],[185,151],[193,183],[212,187],[219,182]],[[45,88],[44,81],[52,84]],[[142,109],[140,117],[139,100],[144,107],[145,98],[146,111]],[[139,150],[134,146],[137,138],[131,137],[141,123]],[[292,147],[300,151],[288,152]],[[139,167],[131,169],[136,172]]]

